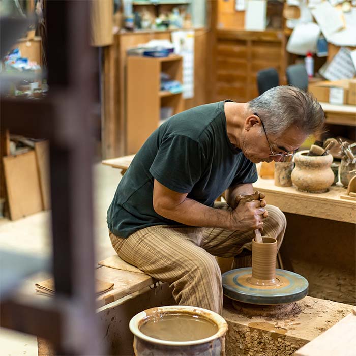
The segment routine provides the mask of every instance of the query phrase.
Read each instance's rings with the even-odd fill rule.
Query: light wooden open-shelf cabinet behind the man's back
[[[184,110],[183,94],[161,91],[160,74],[182,83],[182,61],[179,55],[163,58],[127,58],[126,152],[136,153],[155,131],[161,107],[171,107],[172,115]]]

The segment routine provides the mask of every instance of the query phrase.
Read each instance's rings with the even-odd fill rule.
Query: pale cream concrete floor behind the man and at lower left
[[[111,203],[118,182],[120,170],[101,163],[93,166],[94,177],[94,235],[96,259],[102,260],[115,254],[111,246],[106,225],[106,211]],[[50,212],[40,212],[23,219],[11,221],[0,219],[0,249],[30,253],[37,256],[51,254]],[[38,278],[38,277],[37,277]],[[33,285],[36,276],[26,283]],[[0,356],[37,356],[37,339],[32,335],[0,328]]]

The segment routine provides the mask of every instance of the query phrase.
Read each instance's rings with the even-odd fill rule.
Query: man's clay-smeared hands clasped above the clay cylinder
[[[265,213],[266,210],[261,206],[261,201],[252,197],[241,198],[238,206],[231,211],[231,230],[249,231],[260,229],[263,225],[262,220]]]

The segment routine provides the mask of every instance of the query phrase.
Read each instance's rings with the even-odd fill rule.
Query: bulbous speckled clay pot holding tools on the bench
[[[293,184],[302,192],[327,192],[334,182],[331,169],[333,156],[307,156],[309,151],[300,151],[294,156],[295,168],[291,179]]]

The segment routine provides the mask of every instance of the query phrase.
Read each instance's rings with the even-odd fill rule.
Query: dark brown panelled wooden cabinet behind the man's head
[[[285,83],[282,31],[218,30],[215,44],[214,100],[246,102],[258,96],[257,72],[273,67]]]

